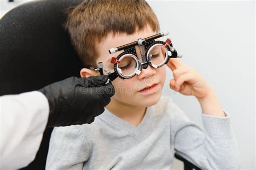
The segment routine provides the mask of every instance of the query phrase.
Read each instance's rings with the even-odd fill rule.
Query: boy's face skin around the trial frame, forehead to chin
[[[149,27],[131,35],[120,34],[113,37],[112,34],[109,34],[98,44],[100,55],[97,59],[97,63],[103,62],[103,69],[108,69],[111,73],[114,72],[113,63],[110,62],[111,58],[116,58],[120,53],[124,52],[124,50],[110,54],[110,48],[122,46],[136,41],[139,38],[150,37],[154,34],[157,34],[157,32],[153,32]],[[137,56],[141,59],[139,47],[136,46],[135,48]],[[165,77],[165,65],[160,68],[148,66],[146,69],[142,69],[139,75],[135,75],[130,79],[120,79],[117,77],[117,79],[112,82],[115,94],[111,98],[111,102],[133,105],[135,107],[149,107],[150,105],[156,104],[161,96],[161,89],[164,86]]]

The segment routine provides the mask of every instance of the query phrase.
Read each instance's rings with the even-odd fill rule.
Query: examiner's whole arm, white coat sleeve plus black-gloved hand
[[[46,126],[91,123],[114,94],[107,76],[70,77],[39,91],[0,97],[0,169],[27,166]]]

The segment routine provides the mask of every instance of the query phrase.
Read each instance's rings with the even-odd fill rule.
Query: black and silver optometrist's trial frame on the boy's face
[[[121,51],[124,49],[124,52],[119,54],[117,56],[117,58],[112,57],[111,59],[111,63],[113,63],[113,67],[114,67],[114,72],[110,73],[109,70],[105,69],[104,71],[108,74],[109,76],[109,80],[113,81],[114,79],[116,79],[117,77],[120,77],[121,79],[130,79],[131,77],[133,77],[136,74],[140,74],[140,72],[142,72],[142,69],[146,69],[147,66],[151,66],[153,68],[159,68],[163,65],[165,65],[170,58],[182,58],[183,55],[182,54],[178,54],[176,49],[172,47],[172,41],[170,38],[167,38],[167,40],[164,41],[155,41],[154,39],[157,39],[159,37],[164,37],[168,35],[168,31],[164,31],[158,34],[155,34],[153,36],[147,37],[147,38],[139,38],[137,41],[131,42],[129,44],[123,45],[123,46],[119,46],[116,48],[111,48],[109,49],[109,53],[113,54],[116,53],[118,51]],[[136,49],[135,46],[139,45],[139,49],[140,49],[140,54],[142,56],[142,61],[139,60],[137,54],[136,54]],[[164,62],[162,62],[160,65],[156,66],[153,65],[151,63],[151,56],[148,55],[150,49],[152,47],[154,47],[155,45],[162,45],[167,49],[167,53],[166,55],[168,55],[166,57],[166,59],[164,60]],[[145,46],[146,50],[143,50],[143,46]],[[119,71],[118,71],[118,63],[120,62],[119,59],[122,58],[124,55],[127,54],[132,54],[131,56],[133,56],[133,58],[136,60],[137,62],[137,69],[134,71],[133,74],[131,74],[130,76],[124,76],[124,75],[120,75]],[[150,59],[147,58],[147,56],[150,56]],[[96,71],[99,71],[100,75],[103,75],[103,62],[98,62],[98,68],[94,68],[89,66],[90,69],[95,69]]]

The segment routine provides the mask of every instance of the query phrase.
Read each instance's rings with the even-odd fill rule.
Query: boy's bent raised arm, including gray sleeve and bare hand
[[[202,108],[205,133],[192,123],[185,113],[171,104],[172,134],[175,148],[181,156],[204,169],[238,169],[239,151],[232,132],[230,116],[220,107],[213,88],[196,69],[179,59],[171,58],[170,88],[180,94],[195,96]]]

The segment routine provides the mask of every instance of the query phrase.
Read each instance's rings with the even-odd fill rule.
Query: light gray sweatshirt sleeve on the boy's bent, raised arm
[[[172,101],[168,104],[171,116],[172,142],[181,157],[201,169],[239,169],[240,153],[230,122],[230,114],[216,117],[201,113],[202,130],[188,119],[185,112]]]

